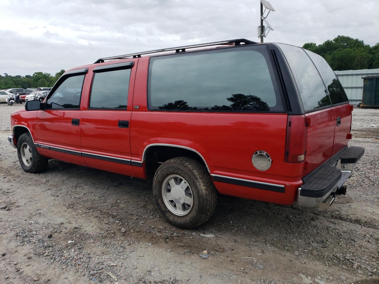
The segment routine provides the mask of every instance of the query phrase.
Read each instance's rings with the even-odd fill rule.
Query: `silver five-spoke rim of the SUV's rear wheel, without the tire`
[[[164,205],[175,215],[184,216],[193,206],[193,193],[188,182],[178,175],[169,175],[162,184]]]

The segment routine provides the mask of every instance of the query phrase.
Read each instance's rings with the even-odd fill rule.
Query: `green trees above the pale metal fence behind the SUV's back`
[[[319,45],[307,42],[303,48],[323,56],[333,70],[379,68],[379,42],[370,47],[359,39],[337,36]]]

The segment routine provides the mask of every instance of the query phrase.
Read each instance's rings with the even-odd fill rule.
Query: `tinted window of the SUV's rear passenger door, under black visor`
[[[94,73],[89,108],[126,108],[131,69]]]

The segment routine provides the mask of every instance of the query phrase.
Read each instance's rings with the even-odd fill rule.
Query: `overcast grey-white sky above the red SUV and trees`
[[[265,41],[340,35],[379,42],[379,0],[270,0]],[[0,0],[0,74],[55,75],[100,57],[202,42],[258,41],[259,0]]]

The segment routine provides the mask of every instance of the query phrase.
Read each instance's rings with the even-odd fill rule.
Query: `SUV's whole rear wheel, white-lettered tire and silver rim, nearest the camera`
[[[160,165],[153,179],[155,202],[166,219],[184,229],[197,228],[216,209],[216,188],[204,165],[177,157]]]

